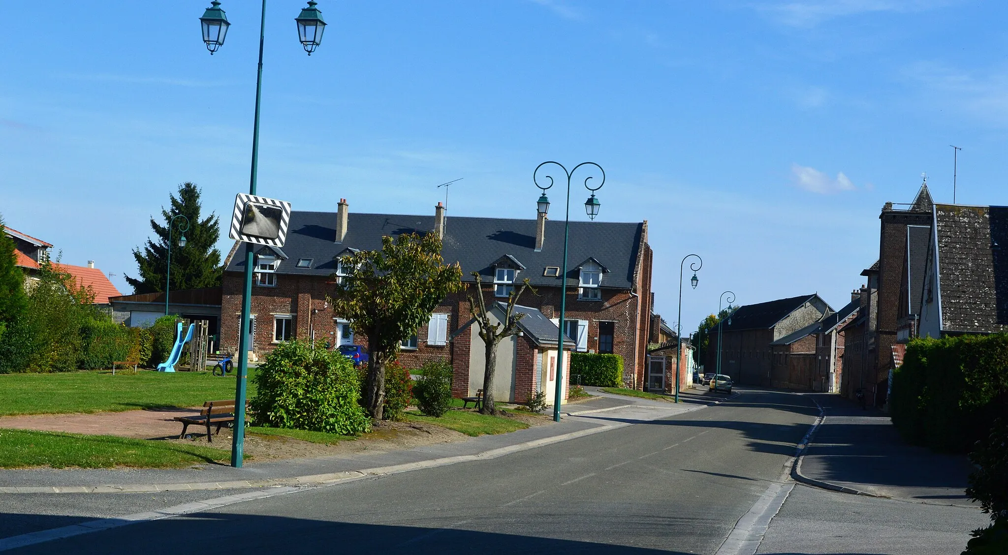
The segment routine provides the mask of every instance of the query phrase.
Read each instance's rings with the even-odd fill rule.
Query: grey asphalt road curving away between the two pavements
[[[11,553],[715,553],[771,481],[782,478],[816,413],[801,396],[745,392],[678,417],[491,460]]]

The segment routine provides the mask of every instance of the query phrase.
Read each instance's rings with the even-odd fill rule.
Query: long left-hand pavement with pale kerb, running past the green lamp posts
[[[436,466],[492,458],[574,439],[620,427],[579,414],[612,412],[623,419],[655,420],[674,416],[707,405],[639,403],[633,398],[599,397],[563,407],[558,423],[524,430],[484,435],[468,441],[424,445],[379,453],[359,453],[309,459],[289,459],[242,468],[204,464],[171,469],[5,469],[0,470],[0,494],[87,494],[115,492],[204,491],[326,483],[369,473],[393,473],[418,467]]]

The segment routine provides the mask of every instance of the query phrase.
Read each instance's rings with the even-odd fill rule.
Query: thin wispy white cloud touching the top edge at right
[[[814,27],[837,17],[866,13],[912,13],[938,8],[953,0],[793,0],[750,4],[750,7],[793,27]]]

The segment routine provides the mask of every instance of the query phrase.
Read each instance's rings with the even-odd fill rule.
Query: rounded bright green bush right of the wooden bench
[[[371,429],[358,403],[357,371],[339,352],[307,341],[284,341],[259,366],[255,384],[251,409],[257,426],[341,435]]]

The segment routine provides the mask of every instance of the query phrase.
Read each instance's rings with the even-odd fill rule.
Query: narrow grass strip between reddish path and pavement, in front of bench
[[[201,445],[112,435],[0,429],[0,468],[172,468],[229,460],[231,451]]]

